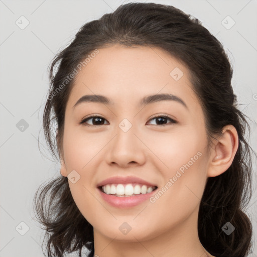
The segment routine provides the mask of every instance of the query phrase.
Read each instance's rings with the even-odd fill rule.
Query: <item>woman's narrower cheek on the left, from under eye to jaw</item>
[[[74,127],[66,126],[63,137],[67,173],[68,175],[71,172],[76,174],[75,183],[72,183],[72,180],[68,180],[69,188],[80,212],[88,221],[91,221],[92,217],[90,215],[92,211],[90,209],[97,203],[92,195],[94,193],[91,188],[91,182],[94,180],[95,170],[97,169],[95,160],[97,160],[97,153],[100,153],[100,150],[106,143],[104,141],[97,143],[95,141],[96,136],[92,137],[78,130],[74,131]],[[74,171],[77,173],[74,173]]]

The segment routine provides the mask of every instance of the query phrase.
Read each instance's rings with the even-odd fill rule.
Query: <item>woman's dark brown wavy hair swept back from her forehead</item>
[[[237,152],[226,172],[207,179],[199,209],[198,234],[212,255],[246,256],[252,236],[251,222],[243,212],[252,194],[253,151],[245,140],[249,124],[236,106],[231,86],[233,70],[221,43],[191,15],[173,6],[130,3],[80,28],[70,45],[56,55],[50,68],[51,85],[43,128],[53,155],[59,160],[63,154],[65,108],[75,79],[69,80],[70,74],[90,53],[113,44],[159,47],[189,69],[193,90],[204,111],[209,143],[225,125],[235,127],[239,138]],[[68,82],[63,84],[65,80]],[[53,133],[55,125],[57,135]],[[65,251],[76,250],[81,256],[83,246],[91,250],[92,256],[93,227],[77,208],[67,177],[60,176],[40,187],[34,205],[38,220],[45,227],[45,236],[49,236],[48,256],[54,253],[61,257]],[[222,231],[228,221],[235,226],[230,235]]]

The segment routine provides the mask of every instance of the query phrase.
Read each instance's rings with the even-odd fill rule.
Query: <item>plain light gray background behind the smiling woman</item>
[[[32,200],[40,184],[60,176],[59,164],[48,152],[42,130],[51,60],[84,23],[129,2],[132,1],[0,0],[1,257],[44,256],[40,247],[44,231],[33,219]],[[233,64],[232,82],[240,109],[252,120],[250,144],[256,151],[257,1],[147,2],[173,5],[191,14],[221,41]],[[21,16],[29,21],[25,29],[20,28],[26,25]],[[235,22],[229,29],[233,21],[227,16]],[[23,131],[22,124],[25,124]],[[255,165],[254,160],[256,172]],[[256,174],[253,179],[256,187]],[[253,222],[255,244],[256,203],[255,191],[247,210]],[[29,227],[27,232],[21,222]],[[257,256],[257,246],[253,252],[249,256]]]

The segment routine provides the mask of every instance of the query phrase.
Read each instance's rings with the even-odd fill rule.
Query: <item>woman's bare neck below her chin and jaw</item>
[[[192,213],[182,224],[148,239],[136,234],[124,241],[106,237],[94,229],[94,256],[100,257],[213,257],[202,246],[197,230],[198,211]],[[151,225],[151,224],[150,224]],[[129,235],[129,234],[128,234]]]

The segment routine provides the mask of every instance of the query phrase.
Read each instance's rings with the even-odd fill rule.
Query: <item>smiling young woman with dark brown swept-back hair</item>
[[[50,69],[62,176],[34,199],[48,256],[246,256],[251,148],[231,77],[220,42],[172,6],[85,24]]]

